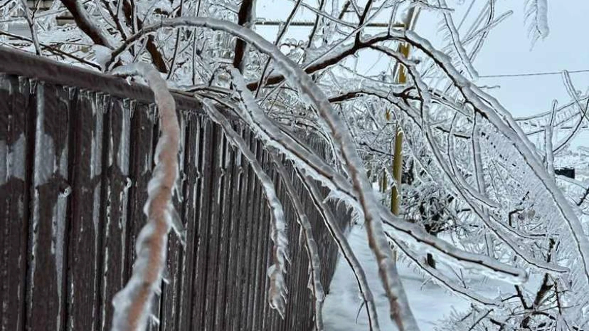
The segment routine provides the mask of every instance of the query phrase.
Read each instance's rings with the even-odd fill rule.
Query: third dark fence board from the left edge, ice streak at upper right
[[[68,330],[95,330],[100,260],[102,118],[101,100],[80,92],[71,110],[70,244],[68,247]],[[84,253],[84,255],[81,254]]]

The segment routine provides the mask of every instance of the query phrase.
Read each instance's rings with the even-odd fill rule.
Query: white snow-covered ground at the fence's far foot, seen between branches
[[[396,330],[389,319],[389,304],[378,278],[378,267],[372,251],[368,247],[366,231],[361,226],[353,226],[348,240],[358,260],[366,272],[366,278],[375,297],[381,330]],[[409,304],[422,331],[434,330],[435,323],[455,310],[463,310],[469,303],[461,297],[454,296],[442,287],[426,282],[425,277],[413,271],[404,262],[398,263],[403,286]],[[477,292],[488,297],[497,297],[498,288],[509,286],[499,282],[487,282],[483,287],[477,286]],[[323,306],[326,331],[357,331],[368,330],[366,310],[360,307],[360,294],[352,270],[344,259],[339,259],[335,275],[330,285],[329,294]],[[356,316],[358,315],[358,320]]]

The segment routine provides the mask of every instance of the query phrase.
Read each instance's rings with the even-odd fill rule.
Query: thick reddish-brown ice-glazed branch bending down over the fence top
[[[176,101],[168,91],[166,81],[153,67],[140,63],[117,68],[113,73],[141,75],[154,92],[160,118],[161,135],[155,147],[155,167],[148,183],[148,198],[144,207],[148,220],[135,243],[137,259],[131,279],[112,300],[115,310],[111,330],[142,331],[151,315],[153,297],[160,292],[166,265],[167,236],[174,223],[172,188],[178,178],[180,126],[176,117]]]

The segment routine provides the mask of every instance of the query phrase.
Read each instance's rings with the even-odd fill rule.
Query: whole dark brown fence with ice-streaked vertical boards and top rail
[[[177,96],[177,105],[176,208],[187,243],[184,249],[170,234],[149,329],[312,330],[307,257],[292,206],[285,204],[292,264],[283,320],[267,304],[272,241],[260,183],[196,101]],[[145,87],[0,48],[0,330],[110,329],[111,300],[130,277],[145,222],[155,116]],[[260,142],[235,125],[277,179]],[[294,182],[327,288],[337,249]],[[349,220],[343,209],[336,216],[342,226]]]

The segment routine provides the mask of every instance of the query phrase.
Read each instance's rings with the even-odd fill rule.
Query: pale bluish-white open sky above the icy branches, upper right
[[[464,5],[456,8],[456,14],[464,12],[468,4],[469,1],[465,1]],[[583,38],[589,31],[586,17],[589,1],[548,0],[550,34],[546,39],[538,40],[532,50],[524,25],[524,1],[497,1],[498,14],[509,9],[514,14],[492,30],[475,59],[474,65],[480,75],[589,69],[589,44]],[[427,30],[432,28],[426,27],[426,24],[432,19],[426,18],[431,14],[423,14],[417,31],[426,35]],[[577,90],[587,91],[589,72],[571,74],[571,78]],[[478,84],[500,85],[501,88],[492,90],[491,94],[515,116],[547,111],[554,98],[561,103],[570,99],[561,75],[480,78]]]

